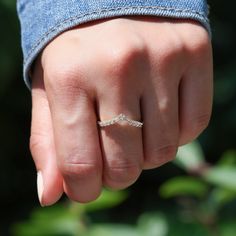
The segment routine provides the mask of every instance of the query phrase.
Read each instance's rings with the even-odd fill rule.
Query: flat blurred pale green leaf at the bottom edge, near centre
[[[129,225],[99,224],[94,225],[84,236],[140,236],[137,230]]]

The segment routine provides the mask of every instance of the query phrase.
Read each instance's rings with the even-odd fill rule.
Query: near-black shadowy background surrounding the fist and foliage
[[[228,149],[236,149],[236,17],[234,1],[211,0],[215,98],[211,123],[199,138],[207,160],[215,163]],[[36,172],[28,142],[30,92],[22,80],[20,29],[14,0],[0,0],[0,235],[26,219],[38,206]],[[132,213],[140,201],[155,205],[158,185],[178,172],[171,165],[149,171],[130,189],[125,203]],[[117,212],[119,215],[119,211]]]

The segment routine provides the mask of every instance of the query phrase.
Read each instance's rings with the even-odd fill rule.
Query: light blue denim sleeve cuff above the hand
[[[209,32],[206,0],[17,0],[24,55],[24,79],[41,50],[78,24],[115,16],[149,15],[193,19]]]

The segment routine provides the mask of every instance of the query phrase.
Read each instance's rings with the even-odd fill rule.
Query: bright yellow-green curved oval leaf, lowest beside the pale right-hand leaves
[[[208,191],[208,186],[197,178],[183,176],[168,180],[159,191],[164,198],[186,195],[203,197]]]

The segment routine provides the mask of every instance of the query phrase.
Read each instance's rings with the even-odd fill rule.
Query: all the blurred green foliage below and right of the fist
[[[160,195],[173,208],[145,211],[136,223],[97,221],[91,217],[129,198],[126,192],[104,190],[89,204],[67,202],[36,209],[28,221],[14,225],[13,236],[233,236],[236,216],[226,220],[229,216],[222,215],[222,211],[236,202],[235,157],[234,151],[226,152],[217,166],[211,166],[198,143],[182,147],[175,163],[186,174],[167,180],[159,188]]]

